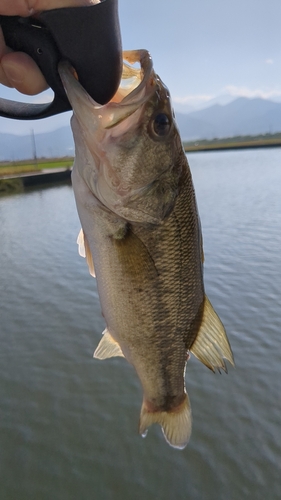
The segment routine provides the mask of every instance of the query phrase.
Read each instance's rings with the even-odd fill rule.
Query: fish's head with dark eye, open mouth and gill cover
[[[178,194],[181,140],[150,54],[126,51],[123,57],[119,89],[106,105],[87,94],[67,63],[60,64],[73,108],[74,168],[107,209],[131,222],[159,223]]]

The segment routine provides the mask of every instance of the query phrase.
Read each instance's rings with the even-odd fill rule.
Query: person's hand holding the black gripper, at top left
[[[0,15],[28,17],[42,10],[89,6],[100,0],[0,0]],[[33,59],[24,52],[13,52],[6,46],[0,28],[0,83],[22,94],[34,95],[48,84]]]

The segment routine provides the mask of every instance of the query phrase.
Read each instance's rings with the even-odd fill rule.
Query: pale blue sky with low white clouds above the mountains
[[[119,0],[119,12],[124,49],[150,50],[176,109],[222,96],[281,100],[281,0]],[[1,87],[0,95],[12,94]],[[40,132],[68,120],[0,118],[0,131]]]

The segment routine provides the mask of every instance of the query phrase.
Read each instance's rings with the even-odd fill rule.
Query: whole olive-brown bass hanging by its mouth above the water
[[[106,328],[94,357],[123,357],[143,389],[139,432],[154,423],[183,449],[192,428],[185,387],[192,353],[212,371],[234,366],[204,291],[203,243],[188,161],[169,90],[146,50],[123,53],[113,99],[100,105],[68,63],[79,253],[96,277]]]

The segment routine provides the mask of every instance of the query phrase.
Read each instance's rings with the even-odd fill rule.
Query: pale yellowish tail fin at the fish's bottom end
[[[147,428],[152,424],[162,427],[164,437],[169,445],[182,450],[187,445],[192,426],[189,397],[185,394],[180,406],[171,411],[148,411],[145,402],[141,408],[139,432],[145,437]]]

